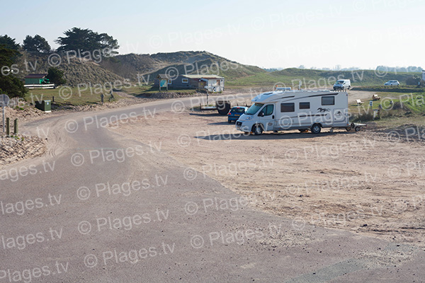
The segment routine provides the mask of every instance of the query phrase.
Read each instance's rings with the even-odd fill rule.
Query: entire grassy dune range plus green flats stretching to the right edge
[[[137,74],[149,78],[152,83],[157,74],[166,73],[170,67],[179,74],[217,74],[224,76],[225,85],[230,88],[267,86],[276,83],[296,88],[302,81],[302,88],[325,88],[331,86],[336,79],[351,79],[352,86],[382,86],[385,81],[396,79],[404,84],[406,79],[415,73],[375,74],[372,70],[358,71],[319,71],[311,69],[283,69],[268,72],[255,66],[239,64],[229,59],[205,51],[181,51],[157,54],[123,54],[111,58],[103,58],[101,62],[67,57],[61,54],[62,61],[58,66],[64,71],[68,86],[79,83],[108,83],[130,79],[137,82]],[[23,52],[19,59],[18,76],[28,73],[47,73],[49,54],[33,54]],[[29,64],[30,63],[30,64]],[[419,73],[417,73],[419,74]]]

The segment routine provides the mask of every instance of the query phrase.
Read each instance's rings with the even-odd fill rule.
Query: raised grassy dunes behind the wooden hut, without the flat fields
[[[30,73],[47,73],[52,67],[49,64],[50,54],[23,52],[19,58],[18,76],[23,79]],[[154,81],[157,74],[164,74],[169,67],[174,67],[179,74],[218,74],[229,80],[244,76],[266,73],[265,70],[239,64],[209,52],[172,52],[157,54],[124,54],[111,58],[103,58],[96,63],[94,60],[71,58],[60,54],[60,64],[57,68],[64,71],[64,79],[68,86],[80,83],[108,83],[130,79],[137,82],[137,74],[149,77]],[[55,59],[57,59],[55,57]]]

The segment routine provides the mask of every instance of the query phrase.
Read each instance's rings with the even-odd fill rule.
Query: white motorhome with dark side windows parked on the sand
[[[262,134],[268,131],[322,128],[349,129],[348,94],[336,91],[273,91],[261,93],[254,104],[239,117],[236,128]]]

